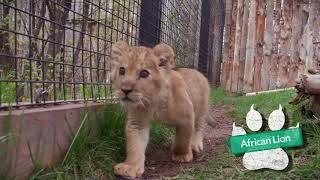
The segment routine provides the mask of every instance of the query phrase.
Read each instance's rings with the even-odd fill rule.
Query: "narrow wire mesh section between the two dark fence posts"
[[[161,41],[175,51],[178,67],[198,68],[201,0],[162,1]]]

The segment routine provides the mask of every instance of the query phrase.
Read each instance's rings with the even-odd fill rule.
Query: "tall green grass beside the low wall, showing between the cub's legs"
[[[31,179],[113,179],[113,166],[125,158],[126,113],[121,105],[108,104],[94,119],[87,119],[74,135],[64,163],[36,172]],[[152,124],[150,141],[164,143],[171,132],[165,126]]]

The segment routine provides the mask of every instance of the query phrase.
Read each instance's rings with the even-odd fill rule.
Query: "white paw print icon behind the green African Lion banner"
[[[276,131],[283,128],[285,116],[282,112],[282,106],[273,111],[268,118],[268,126],[270,130]],[[262,117],[258,111],[251,106],[250,111],[247,113],[246,124],[251,131],[259,131],[262,127]],[[233,124],[232,136],[246,134],[242,127],[237,127]],[[289,164],[287,153],[282,148],[247,152],[243,156],[243,165],[246,169],[257,170],[268,168],[273,170],[283,170]]]

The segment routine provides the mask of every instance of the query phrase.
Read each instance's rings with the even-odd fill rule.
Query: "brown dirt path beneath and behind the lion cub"
[[[160,179],[174,177],[180,169],[203,166],[208,157],[222,153],[226,149],[226,141],[232,131],[232,120],[227,117],[222,106],[214,107],[210,112],[208,127],[204,139],[204,151],[196,154],[194,160],[188,163],[177,163],[171,160],[171,144],[150,144],[146,152],[146,166],[140,179]],[[118,178],[123,179],[123,178]]]

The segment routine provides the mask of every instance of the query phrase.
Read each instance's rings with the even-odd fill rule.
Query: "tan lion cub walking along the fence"
[[[170,46],[130,47],[120,41],[111,52],[113,83],[128,112],[127,157],[114,167],[121,176],[140,177],[151,121],[176,128],[172,159],[188,162],[192,150],[203,150],[203,133],[209,110],[209,84],[198,71],[173,70]]]

